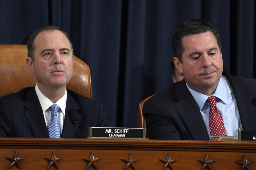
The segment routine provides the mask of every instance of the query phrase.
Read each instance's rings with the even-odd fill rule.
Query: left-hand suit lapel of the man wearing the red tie
[[[177,83],[174,97],[179,100],[174,107],[184,120],[193,140],[209,140],[209,134],[198,104],[189,92],[184,79]]]

